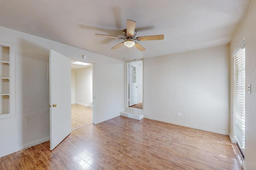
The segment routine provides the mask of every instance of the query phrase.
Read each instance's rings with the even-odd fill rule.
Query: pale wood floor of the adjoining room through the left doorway
[[[88,109],[83,105],[71,105],[71,129],[78,129],[92,124],[92,109]]]

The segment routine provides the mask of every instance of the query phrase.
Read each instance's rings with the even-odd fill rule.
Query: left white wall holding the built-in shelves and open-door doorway
[[[0,119],[0,156],[49,140],[49,50],[95,63],[95,123],[124,109],[124,62],[0,27],[0,41],[15,44],[16,116]]]

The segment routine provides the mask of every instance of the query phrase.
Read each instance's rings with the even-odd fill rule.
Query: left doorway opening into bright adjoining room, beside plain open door
[[[71,130],[93,123],[93,64],[71,61]]]

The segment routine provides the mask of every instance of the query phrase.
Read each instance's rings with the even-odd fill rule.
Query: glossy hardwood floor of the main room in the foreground
[[[0,169],[241,170],[226,135],[150,119],[115,117],[72,133],[53,151],[49,142],[0,158]]]

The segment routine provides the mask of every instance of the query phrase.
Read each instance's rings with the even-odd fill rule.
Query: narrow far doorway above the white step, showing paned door
[[[143,109],[143,61],[129,62],[126,67],[126,106]]]

